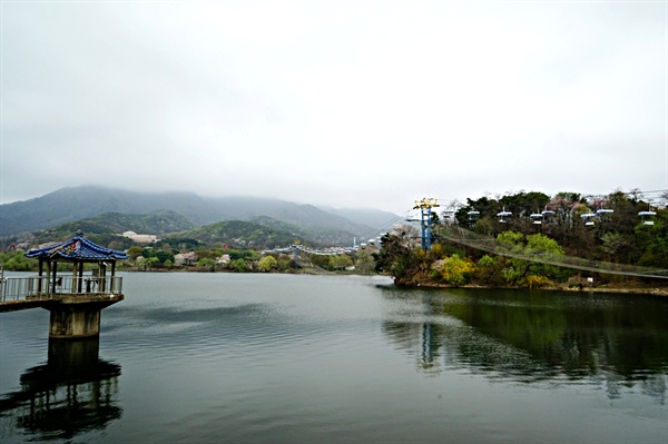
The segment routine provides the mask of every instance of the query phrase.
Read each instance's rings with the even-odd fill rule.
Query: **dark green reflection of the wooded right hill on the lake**
[[[385,288],[399,307],[383,330],[419,368],[466,368],[522,383],[599,384],[610,398],[639,387],[666,403],[668,304],[527,292]],[[403,304],[397,304],[403,300]],[[406,303],[413,302],[411,303]]]

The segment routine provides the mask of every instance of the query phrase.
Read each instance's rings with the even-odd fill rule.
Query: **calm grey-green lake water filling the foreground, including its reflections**
[[[99,342],[0,314],[0,441],[668,442],[668,299],[125,274]]]

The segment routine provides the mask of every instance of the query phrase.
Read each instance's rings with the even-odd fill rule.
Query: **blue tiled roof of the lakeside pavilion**
[[[26,253],[26,257],[41,259],[60,258],[66,260],[121,260],[129,258],[125,251],[117,251],[91,243],[84,238],[84,233],[81,231],[77,231],[75,237],[63,243],[46,248],[31,249]]]

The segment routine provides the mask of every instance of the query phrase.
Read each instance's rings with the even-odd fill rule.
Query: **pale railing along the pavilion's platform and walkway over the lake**
[[[58,299],[62,296],[104,296],[122,293],[120,276],[29,276],[0,280],[0,303],[23,299]]]

